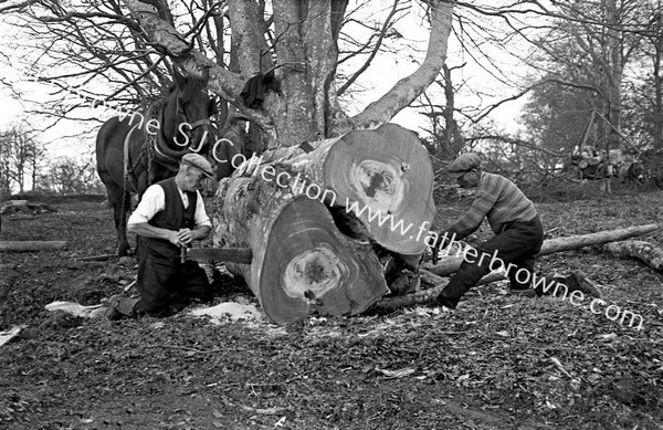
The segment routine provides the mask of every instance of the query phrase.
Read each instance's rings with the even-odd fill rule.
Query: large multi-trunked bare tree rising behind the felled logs
[[[399,38],[392,22],[418,3],[390,2],[382,25],[371,25],[368,40],[352,43],[346,35],[341,38],[344,25],[356,24],[346,1],[150,3],[95,0],[65,4],[43,0],[12,15],[11,22],[28,35],[18,38],[15,44],[36,53],[30,56],[34,65],[71,65],[69,73],[49,70],[39,77],[57,87],[55,96],[60,99],[54,104],[60,106],[55,111],[60,116],[74,117],[77,107],[95,98],[138,105],[158,93],[168,81],[168,69],[178,63],[191,71],[208,69],[210,88],[253,119],[270,146],[276,146],[277,140],[278,145],[293,145],[375,126],[389,120],[433,82],[445,59],[453,11],[449,1],[419,3],[429,10],[431,23],[421,66],[349,118],[337,93],[345,93],[364,73],[364,65],[386,49],[386,41]],[[339,44],[345,48],[340,50]],[[344,82],[337,84],[339,61],[354,53],[364,55],[365,64],[356,73],[340,76]],[[270,74],[277,87],[267,88],[276,91],[267,91],[260,108],[250,108],[240,93],[257,74]],[[84,99],[64,107],[61,102],[72,88]],[[87,119],[94,120],[96,115]]]

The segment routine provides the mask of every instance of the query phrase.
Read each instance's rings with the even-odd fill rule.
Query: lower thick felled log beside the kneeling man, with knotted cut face
[[[276,175],[293,174],[277,166]],[[250,248],[244,277],[267,317],[285,324],[314,310],[356,315],[389,290],[371,247],[341,234],[325,204],[301,193],[295,175],[225,178],[214,198],[214,247]]]

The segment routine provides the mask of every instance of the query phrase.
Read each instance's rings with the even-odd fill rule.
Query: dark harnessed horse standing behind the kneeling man
[[[177,71],[168,94],[145,112],[126,111],[104,123],[96,137],[97,174],[106,186],[119,242],[118,254],[130,254],[126,233],[130,196],[138,199],[151,183],[175,176],[181,157],[207,151],[208,133],[215,128],[210,116],[215,99],[203,78],[185,77]]]

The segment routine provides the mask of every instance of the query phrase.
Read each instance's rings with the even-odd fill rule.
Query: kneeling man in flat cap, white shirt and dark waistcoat
[[[127,230],[137,234],[140,298],[114,295],[106,317],[122,315],[168,316],[170,304],[180,300],[211,302],[212,289],[204,271],[196,261],[181,261],[180,251],[193,240],[206,239],[212,223],[196,189],[214,172],[208,160],[198,154],[187,154],[178,174],[150,186],[129,217]]]

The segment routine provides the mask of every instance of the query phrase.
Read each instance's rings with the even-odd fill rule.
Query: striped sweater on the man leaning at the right
[[[491,228],[497,234],[505,223],[532,221],[536,214],[534,203],[514,182],[499,175],[483,172],[472,207],[446,231],[449,238],[455,233],[456,240],[464,239],[478,229],[487,217]]]

